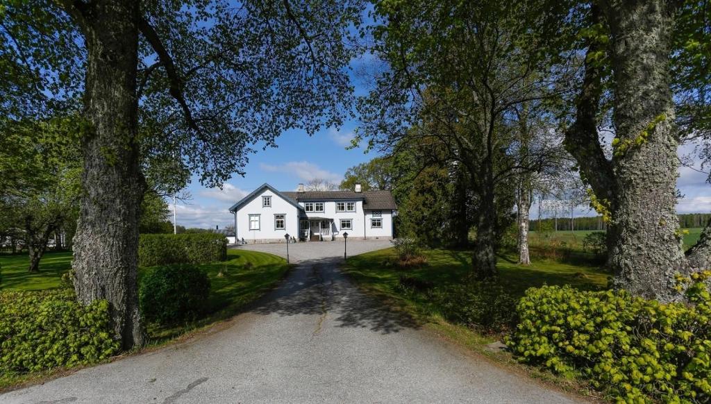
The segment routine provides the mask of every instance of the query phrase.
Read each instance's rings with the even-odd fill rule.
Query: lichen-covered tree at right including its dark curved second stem
[[[680,2],[599,1],[590,7],[584,77],[566,146],[609,215],[609,263],[619,287],[675,299],[675,272],[709,262],[711,240],[685,256],[675,213],[679,133],[670,76]],[[609,89],[609,95],[606,91]],[[608,158],[599,116],[611,100],[615,139]],[[705,246],[704,246],[705,245]]]

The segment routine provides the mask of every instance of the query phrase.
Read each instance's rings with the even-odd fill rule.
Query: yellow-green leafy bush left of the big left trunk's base
[[[95,363],[119,352],[109,304],[77,302],[71,290],[0,292],[0,373]]]

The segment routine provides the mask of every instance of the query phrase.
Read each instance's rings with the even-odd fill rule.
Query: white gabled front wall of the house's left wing
[[[262,196],[272,197],[272,207],[262,207]],[[250,214],[260,215],[260,230],[250,230]],[[274,215],[286,215],[286,228],[274,229]],[[267,188],[237,211],[237,238],[245,241],[284,241],[284,235],[299,237],[299,210]]]

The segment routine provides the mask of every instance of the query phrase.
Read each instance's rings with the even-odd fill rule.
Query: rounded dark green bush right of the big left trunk
[[[141,277],[139,303],[147,320],[175,324],[196,319],[209,294],[207,273],[193,265],[166,265]]]

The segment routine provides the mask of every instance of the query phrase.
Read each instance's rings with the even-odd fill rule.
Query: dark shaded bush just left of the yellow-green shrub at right
[[[469,282],[437,289],[432,298],[450,321],[473,329],[501,332],[516,324],[516,300],[497,282]]]

